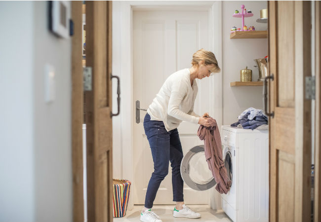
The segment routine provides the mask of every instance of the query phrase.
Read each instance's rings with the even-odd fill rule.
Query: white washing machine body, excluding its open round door
[[[221,127],[223,160],[232,181],[221,203],[234,222],[269,221],[268,132]]]

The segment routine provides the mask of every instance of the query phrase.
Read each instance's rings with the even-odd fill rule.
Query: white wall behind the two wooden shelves
[[[268,55],[267,38],[230,39],[230,29],[233,26],[241,28],[241,18],[232,17],[235,9],[241,11],[241,4],[254,14],[244,18],[244,24],[254,26],[255,30],[267,30],[267,24],[257,23],[260,9],[267,8],[267,1],[223,1],[223,125],[237,122],[238,115],[249,107],[263,109],[261,86],[230,87],[230,82],[240,81],[240,70],[252,70],[252,80],[258,79],[258,68],[253,59]]]

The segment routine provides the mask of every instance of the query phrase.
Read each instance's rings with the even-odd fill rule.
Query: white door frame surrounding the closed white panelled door
[[[114,162],[119,165],[115,168],[120,169],[122,179],[132,183],[131,189],[135,185],[133,181],[133,124],[134,98],[133,95],[133,52],[132,52],[132,23],[134,10],[164,10],[164,9],[206,9],[209,13],[209,26],[212,27],[210,35],[212,41],[209,42],[209,49],[215,51],[215,56],[222,64],[222,2],[221,1],[114,1],[113,8],[119,14],[113,14],[113,73],[120,76],[120,87],[130,93],[121,95],[120,117],[113,119],[114,131],[120,135],[113,136]],[[214,32],[215,31],[215,32]],[[214,50],[215,49],[215,50]],[[124,62],[126,61],[126,62]],[[222,68],[222,65],[220,66]],[[223,69],[222,69],[223,70]],[[222,100],[222,74],[214,75],[212,85],[214,85],[214,96],[217,103],[213,104],[213,112],[220,116],[218,121],[222,125],[223,121],[223,100]],[[124,92],[124,91],[122,91]],[[113,92],[115,93],[115,92]],[[113,95],[115,98],[115,95]],[[213,100],[211,100],[213,103]],[[136,123],[135,123],[136,124]],[[215,206],[215,200],[211,200],[210,205]],[[133,207],[133,195],[129,196],[128,208]]]

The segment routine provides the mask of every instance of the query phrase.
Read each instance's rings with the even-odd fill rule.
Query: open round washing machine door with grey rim
[[[206,162],[204,145],[193,147],[185,154],[181,176],[185,184],[195,190],[206,190],[216,185]]]

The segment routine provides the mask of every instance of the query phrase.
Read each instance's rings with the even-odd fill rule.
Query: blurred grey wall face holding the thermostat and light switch
[[[36,221],[72,221],[71,38],[47,28],[47,1],[34,2]],[[44,102],[44,65],[55,68],[56,99]]]

